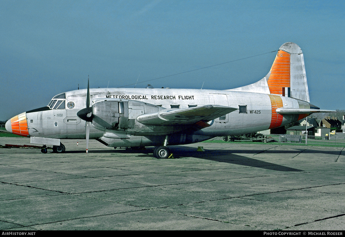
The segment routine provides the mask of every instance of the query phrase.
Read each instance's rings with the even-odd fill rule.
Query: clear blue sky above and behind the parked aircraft
[[[344,13],[341,1],[2,0],[0,120],[86,88],[88,75],[90,87],[120,87],[242,59],[149,84],[248,85],[285,42],[303,50],[311,103],[345,109]]]

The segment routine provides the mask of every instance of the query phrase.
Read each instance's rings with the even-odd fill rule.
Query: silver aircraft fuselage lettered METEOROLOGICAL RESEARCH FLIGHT
[[[38,112],[27,112],[29,136],[60,139],[84,139],[85,121],[77,117],[77,112],[86,106],[86,89],[66,92],[66,105],[72,102],[74,107],[51,109]],[[277,106],[272,97],[280,99],[282,106]],[[234,108],[242,106],[242,111],[234,111],[226,116],[210,121],[211,126],[197,131],[171,134],[176,142],[171,144],[186,144],[213,138],[215,136],[238,135],[267,130],[297,121],[299,115],[279,115],[275,108],[309,108],[309,103],[297,99],[262,93],[218,91],[207,89],[150,89],[150,88],[98,88],[90,89],[90,101],[97,98],[117,98],[136,100],[164,108],[188,108],[189,106],[223,105]],[[129,108],[130,109],[130,108]],[[245,109],[245,111],[244,111]],[[129,110],[129,118],[131,112]],[[91,126],[90,139],[102,137],[104,131]],[[152,134],[155,136],[155,134]],[[185,136],[194,138],[184,139]],[[148,140],[146,141],[146,139]],[[151,138],[149,136],[131,136],[129,139],[113,139],[107,142],[111,146],[156,145],[164,136]],[[126,140],[126,141],[123,141]],[[131,144],[135,141],[135,144]],[[151,144],[152,143],[152,144]]]

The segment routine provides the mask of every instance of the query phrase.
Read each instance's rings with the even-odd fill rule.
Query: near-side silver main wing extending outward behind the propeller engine
[[[237,108],[221,105],[204,105],[191,108],[166,109],[156,113],[142,114],[137,121],[150,125],[188,125],[199,121],[210,121]]]

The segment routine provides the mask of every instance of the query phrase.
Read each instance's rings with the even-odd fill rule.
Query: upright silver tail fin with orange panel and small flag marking
[[[264,78],[251,85],[229,91],[275,94],[310,102],[301,48],[292,42],[283,44]]]

